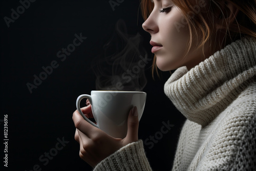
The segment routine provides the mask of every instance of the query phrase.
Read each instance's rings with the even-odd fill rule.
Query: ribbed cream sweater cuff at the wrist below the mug
[[[152,170],[144,152],[143,141],[127,144],[94,168],[94,171],[111,170]]]

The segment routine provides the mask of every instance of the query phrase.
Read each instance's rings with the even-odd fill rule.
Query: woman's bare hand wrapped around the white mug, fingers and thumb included
[[[91,105],[82,108],[81,112],[89,117],[92,112]],[[93,126],[77,110],[73,113],[73,121],[76,127],[75,140],[80,144],[79,156],[91,166],[95,166],[119,148],[138,141],[139,119],[136,106],[129,112],[127,135],[123,139],[114,138]]]

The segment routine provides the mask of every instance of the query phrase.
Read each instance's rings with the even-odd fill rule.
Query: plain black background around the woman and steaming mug
[[[116,1],[115,1],[116,2]],[[122,1],[119,1],[122,2]],[[79,158],[79,144],[74,140],[72,114],[80,94],[95,90],[91,62],[102,54],[103,46],[115,33],[122,19],[129,35],[142,35],[143,48],[152,58],[150,35],[141,24],[139,0],[124,0],[114,7],[106,1],[40,1],[30,3],[24,13],[10,23],[11,9],[17,11],[19,1],[1,1],[1,159],[4,161],[4,115],[8,115],[8,168],[5,170],[91,170]],[[56,56],[61,48],[73,42],[75,34],[87,37],[66,60]],[[39,75],[42,67],[56,60],[58,67],[32,93],[27,83]],[[163,121],[174,124],[154,146],[144,145],[154,170],[170,170],[184,118],[163,92],[168,72],[154,81],[151,65],[145,67],[147,93],[140,121],[139,139],[155,136]],[[57,138],[69,141],[46,164],[39,157],[54,151]],[[4,165],[1,161],[1,167]],[[44,165],[45,164],[45,165]],[[38,169],[38,170],[40,170]],[[36,170],[36,169],[34,169]]]

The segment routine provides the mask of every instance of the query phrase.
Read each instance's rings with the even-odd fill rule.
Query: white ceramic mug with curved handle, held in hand
[[[80,109],[80,102],[83,98],[89,99],[97,124],[83,115]],[[137,106],[140,120],[145,102],[145,92],[91,91],[91,95],[83,94],[77,98],[76,108],[82,117],[92,125],[115,138],[124,138],[127,133],[127,118],[130,110],[133,106]]]

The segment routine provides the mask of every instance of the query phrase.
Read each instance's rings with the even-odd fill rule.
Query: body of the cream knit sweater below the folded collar
[[[202,168],[246,170],[256,167],[256,83],[250,83],[216,118]],[[207,169],[206,169],[207,170]]]

